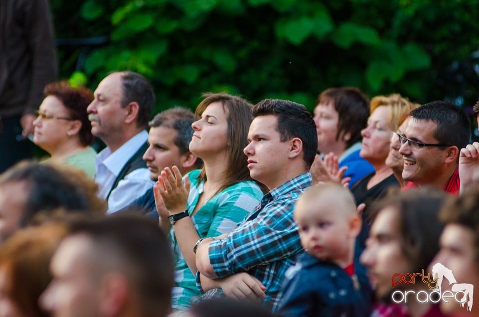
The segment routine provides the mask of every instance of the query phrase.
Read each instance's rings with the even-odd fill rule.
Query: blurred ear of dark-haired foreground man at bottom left
[[[101,316],[121,315],[121,311],[130,301],[131,290],[125,276],[118,272],[105,274],[100,282],[98,309]]]

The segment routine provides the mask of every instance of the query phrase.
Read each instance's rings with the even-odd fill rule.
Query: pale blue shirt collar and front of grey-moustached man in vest
[[[95,164],[105,165],[105,167],[108,168],[115,176],[118,176],[128,159],[130,159],[131,156],[136,153],[147,140],[148,132],[143,130],[125,142],[113,153],[110,151],[110,149],[105,148],[96,156]]]

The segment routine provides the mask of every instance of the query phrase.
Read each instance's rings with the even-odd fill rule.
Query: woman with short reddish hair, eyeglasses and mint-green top
[[[53,82],[43,90],[45,99],[33,121],[33,143],[45,150],[51,162],[72,165],[94,177],[96,152],[86,108],[93,100],[88,88]]]

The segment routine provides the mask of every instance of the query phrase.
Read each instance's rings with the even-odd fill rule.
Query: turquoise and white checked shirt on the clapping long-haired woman
[[[200,170],[191,171],[188,175],[191,180],[190,194],[187,208],[194,210],[200,194],[203,193],[204,182],[198,183]],[[200,238],[216,237],[231,232],[237,223],[251,212],[261,199],[262,192],[254,181],[240,181],[216,194],[208,200],[192,217]],[[186,310],[190,307],[190,300],[200,295],[196,287],[195,276],[191,273],[181,254],[173,227],[169,234],[171,248],[175,259],[175,287],[172,291],[172,308]]]

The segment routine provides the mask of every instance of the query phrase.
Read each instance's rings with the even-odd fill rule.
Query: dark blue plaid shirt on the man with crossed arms
[[[210,263],[218,277],[240,272],[254,276],[266,287],[263,304],[273,312],[279,308],[286,270],[296,263],[295,255],[304,251],[293,209],[299,195],[311,185],[307,172],[272,189],[237,229],[209,247]],[[197,285],[201,289],[199,274]],[[209,292],[217,294],[218,289]]]

